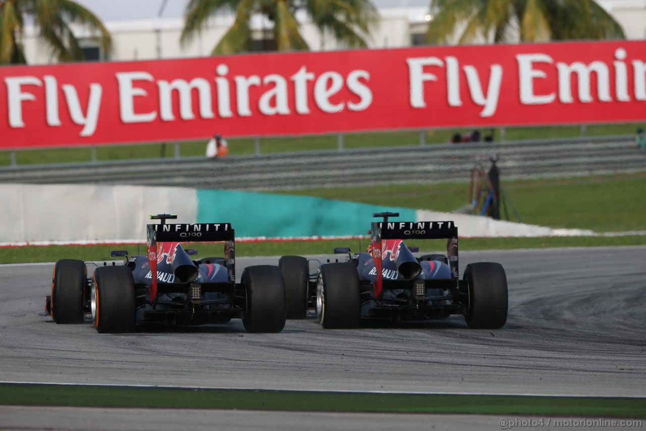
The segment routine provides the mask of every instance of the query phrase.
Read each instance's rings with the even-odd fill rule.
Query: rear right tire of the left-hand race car
[[[285,327],[285,282],[273,265],[247,267],[242,272],[245,315],[242,324],[249,332],[276,333]]]

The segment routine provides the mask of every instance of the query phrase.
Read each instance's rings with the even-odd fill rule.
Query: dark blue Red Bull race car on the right
[[[459,278],[457,227],[452,221],[389,221],[377,213],[368,252],[344,262],[323,263],[313,274],[300,256],[283,256],[279,267],[287,291],[287,316],[315,309],[325,328],[357,327],[362,319],[425,321],[464,315],[472,328],[494,329],[507,318],[507,280],[499,263],[466,265]],[[416,258],[406,239],[447,239],[446,255]]]

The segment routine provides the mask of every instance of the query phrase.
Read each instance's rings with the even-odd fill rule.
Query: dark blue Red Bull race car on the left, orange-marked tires
[[[249,332],[275,333],[285,326],[285,287],[273,265],[247,267],[235,280],[235,239],[229,223],[167,224],[177,216],[159,214],[147,225],[147,255],[128,258],[125,265],[98,266],[63,259],[54,266],[52,294],[45,315],[58,324],[91,318],[99,333],[134,331],[139,324],[201,325],[242,318]],[[183,242],[223,241],[224,257],[194,261],[196,250]]]

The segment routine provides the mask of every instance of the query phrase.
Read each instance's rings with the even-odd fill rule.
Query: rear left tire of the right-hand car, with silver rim
[[[318,269],[317,316],[326,329],[359,326],[360,284],[357,267],[351,263],[327,263]]]

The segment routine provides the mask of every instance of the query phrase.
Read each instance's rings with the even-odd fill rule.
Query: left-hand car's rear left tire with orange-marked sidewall
[[[90,295],[92,322],[99,333],[134,331],[134,280],[128,267],[98,267]]]

